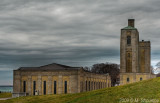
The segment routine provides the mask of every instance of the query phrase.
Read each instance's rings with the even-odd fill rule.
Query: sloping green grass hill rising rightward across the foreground
[[[160,101],[160,78],[90,92],[27,96],[0,103],[156,103]]]

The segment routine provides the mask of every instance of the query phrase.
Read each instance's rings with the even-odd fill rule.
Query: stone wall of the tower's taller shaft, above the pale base
[[[127,44],[127,36],[131,36],[131,44]],[[131,71],[137,72],[138,70],[138,44],[139,44],[139,33],[137,30],[121,30],[121,41],[120,41],[120,72],[125,73],[127,71],[127,62],[131,62]],[[127,59],[128,53],[130,59]],[[127,61],[128,60],[128,61]]]

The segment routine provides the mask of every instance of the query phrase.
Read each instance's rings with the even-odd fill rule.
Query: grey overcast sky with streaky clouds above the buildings
[[[160,61],[159,0],[0,0],[0,85],[13,69],[120,62],[120,29],[135,19]]]

